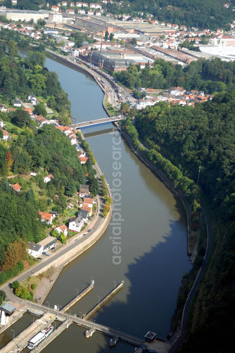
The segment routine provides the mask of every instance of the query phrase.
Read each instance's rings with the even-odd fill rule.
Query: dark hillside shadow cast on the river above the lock
[[[191,266],[187,257],[187,239],[182,246],[182,237],[186,238],[186,234],[177,232],[181,221],[169,220],[170,231],[162,241],[153,246],[151,252],[136,257],[135,262],[128,265],[125,276],[130,281],[130,288],[124,300],[114,297],[90,318],[91,321],[95,319],[96,323],[142,338],[148,331],[166,338],[182,276]]]

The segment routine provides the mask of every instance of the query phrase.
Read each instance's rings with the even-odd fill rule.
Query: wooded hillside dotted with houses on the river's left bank
[[[99,189],[90,151],[82,166],[63,132],[52,124],[40,127],[22,106],[13,107],[15,97],[27,102],[33,92],[39,98],[37,106],[31,106],[34,113],[47,114],[47,103],[56,119],[67,118],[70,101],[57,74],[44,67],[45,55],[29,51],[22,60],[10,38],[7,54],[5,49],[0,46],[0,284],[24,269],[22,260],[33,261],[25,251],[27,243],[48,235],[49,225],[41,222],[39,211],[63,214],[69,199],[87,180],[92,195]],[[36,176],[29,174],[32,170]],[[53,178],[45,183],[48,174]],[[17,183],[20,191],[11,186]]]

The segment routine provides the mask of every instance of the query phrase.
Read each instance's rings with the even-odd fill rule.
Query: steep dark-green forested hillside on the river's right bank
[[[135,118],[137,131],[152,148],[149,156],[153,160],[160,153],[195,183],[201,166],[199,185],[212,216],[212,258],[196,295],[181,352],[198,352],[207,345],[212,352],[224,352],[224,342],[229,349],[233,345],[234,111],[235,90],[231,90],[212,101],[195,104],[195,108],[158,103]]]

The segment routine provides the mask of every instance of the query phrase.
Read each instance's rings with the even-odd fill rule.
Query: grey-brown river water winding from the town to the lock
[[[46,67],[58,73],[62,88],[71,100],[73,116],[91,119],[104,116],[102,91],[84,74],[47,58]],[[99,166],[112,187],[113,125],[84,128]],[[118,133],[116,132],[116,136]],[[48,294],[50,306],[64,306],[94,277],[94,289],[71,308],[71,315],[88,312],[114,285],[124,286],[92,318],[115,329],[144,337],[147,331],[166,338],[176,307],[182,276],[191,265],[187,257],[187,227],[183,206],[148,168],[130,151],[120,137],[121,148],[121,263],[113,264],[112,225],[100,240],[67,265]],[[118,141],[116,139],[115,141]],[[114,156],[115,157],[115,156]],[[47,305],[47,304],[46,304]],[[84,329],[74,325],[64,331],[45,351],[67,353],[108,352],[109,338],[94,334],[85,339]],[[133,352],[118,342],[116,352]]]

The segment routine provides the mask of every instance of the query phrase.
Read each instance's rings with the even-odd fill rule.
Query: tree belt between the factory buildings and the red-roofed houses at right
[[[202,58],[182,68],[181,65],[157,59],[151,70],[148,65],[139,70],[138,66],[130,64],[127,71],[116,72],[113,76],[129,88],[168,89],[170,86],[180,86],[188,91],[202,90],[212,94],[235,88],[235,62]]]

